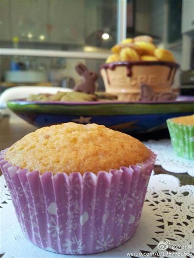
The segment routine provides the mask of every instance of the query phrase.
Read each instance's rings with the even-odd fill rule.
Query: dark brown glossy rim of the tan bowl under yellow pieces
[[[105,63],[101,65],[100,69],[107,69],[111,68],[112,66],[120,66],[120,65],[165,65],[165,66],[171,66],[173,68],[179,68],[179,64],[175,62],[168,62],[168,61],[118,61],[118,62],[111,62],[111,63]]]

